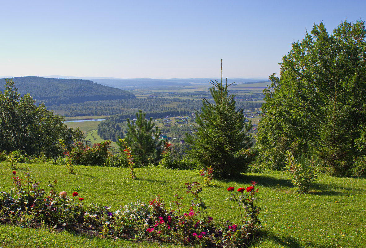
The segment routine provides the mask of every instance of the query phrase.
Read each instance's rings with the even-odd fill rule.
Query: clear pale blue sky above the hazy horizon
[[[0,0],[0,77],[268,78],[321,21],[365,0]]]

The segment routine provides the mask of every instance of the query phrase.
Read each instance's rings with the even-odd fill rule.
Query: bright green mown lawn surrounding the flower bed
[[[21,175],[29,167],[32,175],[48,191],[48,181],[57,179],[58,191],[76,191],[85,199],[84,204],[103,203],[117,208],[136,199],[145,202],[160,196],[169,205],[173,193],[184,197],[186,210],[191,197],[185,193],[185,183],[202,182],[197,171],[139,168],[138,180],[128,179],[124,168],[75,166],[76,174],[68,174],[60,165],[18,164]],[[11,170],[0,163],[0,190],[10,191]],[[239,222],[239,212],[228,197],[227,188],[247,187],[257,181],[260,192],[259,215],[264,229],[250,246],[262,248],[330,248],[363,247],[366,244],[366,179],[320,176],[312,184],[310,193],[294,193],[285,173],[248,173],[238,179],[214,180],[216,186],[203,187],[202,197],[211,208],[214,219]],[[0,247],[157,247],[157,244],[132,243],[122,240],[101,240],[70,233],[50,233],[49,230],[28,230],[0,226]],[[163,245],[164,247],[173,247]],[[160,246],[161,247],[161,246]]]

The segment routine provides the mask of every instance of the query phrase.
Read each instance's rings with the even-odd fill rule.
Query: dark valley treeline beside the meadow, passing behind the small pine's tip
[[[165,110],[165,111],[152,111],[146,113],[146,118],[161,118],[166,116],[184,116],[191,114],[189,110]],[[127,132],[126,120],[136,118],[136,113],[127,114],[115,114],[108,118],[108,120],[102,121],[98,125],[98,135],[102,139],[109,139],[117,141],[118,137],[124,137]]]

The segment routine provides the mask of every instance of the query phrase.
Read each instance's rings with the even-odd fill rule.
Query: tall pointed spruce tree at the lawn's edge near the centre
[[[200,166],[210,166],[216,177],[230,177],[245,172],[247,161],[237,153],[252,146],[243,109],[236,110],[234,95],[228,95],[228,85],[210,82],[214,103],[203,99],[201,112],[196,113],[194,133],[186,134],[190,144],[188,155]],[[216,89],[215,89],[216,88]]]

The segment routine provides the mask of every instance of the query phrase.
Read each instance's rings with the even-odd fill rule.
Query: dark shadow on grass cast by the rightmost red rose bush
[[[278,244],[281,247],[288,247],[288,248],[307,248],[307,247],[314,247],[314,248],[333,248],[334,245],[317,245],[311,243],[309,241],[304,241],[306,244],[300,244],[299,240],[290,236],[284,235],[276,235],[271,231],[260,231],[259,235],[261,238],[257,240],[253,240],[252,244],[256,246],[256,244],[260,240],[271,240],[273,243]]]

